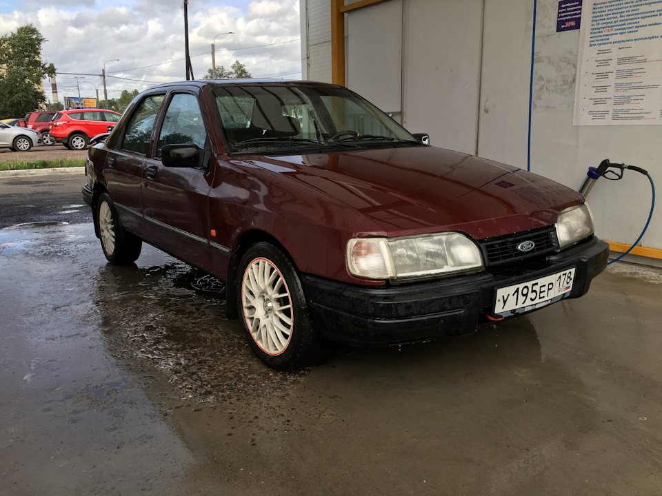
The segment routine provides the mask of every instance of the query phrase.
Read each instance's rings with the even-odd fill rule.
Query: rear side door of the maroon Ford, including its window
[[[104,167],[106,187],[122,225],[141,238],[145,229],[141,205],[143,171],[154,122],[164,99],[165,94],[150,94],[134,107],[117,146],[108,152]]]

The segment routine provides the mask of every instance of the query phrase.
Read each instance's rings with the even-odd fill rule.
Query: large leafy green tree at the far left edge
[[[46,38],[32,24],[0,38],[0,116],[23,116],[46,103],[42,80],[55,68],[41,63]]]

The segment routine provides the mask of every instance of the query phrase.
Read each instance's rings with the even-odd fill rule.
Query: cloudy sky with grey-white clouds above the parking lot
[[[0,0],[0,35],[32,23],[48,39],[41,56],[57,68],[60,101],[78,96],[77,83],[81,96],[98,87],[103,99],[109,60],[109,99],[185,79],[183,19],[183,0]],[[212,66],[214,37],[230,31],[216,37],[217,65],[239,60],[253,77],[301,78],[299,0],[189,0],[188,30],[195,79]]]

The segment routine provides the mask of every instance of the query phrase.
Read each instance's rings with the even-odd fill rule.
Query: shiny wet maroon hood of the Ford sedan
[[[269,157],[269,169],[351,207],[370,232],[408,236],[463,231],[476,239],[551,225],[583,197],[536,174],[435,147],[394,147]]]

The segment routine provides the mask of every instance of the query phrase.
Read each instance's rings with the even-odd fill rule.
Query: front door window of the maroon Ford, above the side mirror
[[[163,118],[161,134],[159,134],[154,157],[161,156],[163,145],[193,143],[200,148],[204,148],[205,141],[207,141],[207,132],[205,131],[198,99],[192,94],[172,96]]]

